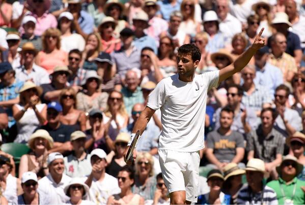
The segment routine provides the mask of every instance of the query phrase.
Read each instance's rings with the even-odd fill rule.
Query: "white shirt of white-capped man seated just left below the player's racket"
[[[106,204],[108,197],[121,193],[117,178],[105,173],[103,181],[93,179],[90,187],[90,198],[95,204]]]

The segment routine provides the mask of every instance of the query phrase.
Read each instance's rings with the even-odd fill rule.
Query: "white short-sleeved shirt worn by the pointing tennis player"
[[[178,77],[161,80],[150,93],[147,106],[161,110],[158,149],[195,152],[204,148],[207,92],[218,86],[219,71],[196,74],[188,83]]]

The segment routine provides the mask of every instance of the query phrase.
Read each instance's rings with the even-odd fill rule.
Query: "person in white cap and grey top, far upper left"
[[[35,49],[37,49],[38,51],[42,50],[41,38],[39,36],[36,36],[34,33],[36,23],[37,20],[34,16],[23,17],[21,25],[24,29],[24,33],[21,35],[19,47],[22,47],[25,43],[31,42],[33,43]]]

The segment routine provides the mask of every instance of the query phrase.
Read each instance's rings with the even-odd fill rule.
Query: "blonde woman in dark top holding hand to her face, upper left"
[[[86,46],[82,52],[80,67],[85,70],[97,71],[97,64],[94,59],[102,51],[101,36],[97,32],[90,33],[86,39]]]

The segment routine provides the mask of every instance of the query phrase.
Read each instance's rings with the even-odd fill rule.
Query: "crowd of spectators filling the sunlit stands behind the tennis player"
[[[305,204],[301,0],[0,0],[0,141],[30,150],[0,151],[0,203],[169,204],[162,111],[123,158],[149,93],[179,46],[200,49],[197,74],[221,70],[262,27],[208,92],[198,203]]]

